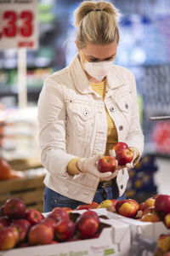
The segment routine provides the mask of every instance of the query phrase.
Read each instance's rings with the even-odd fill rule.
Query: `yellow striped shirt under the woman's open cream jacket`
[[[101,81],[99,84],[90,83],[92,89],[97,92],[100,96],[102,96],[103,100],[105,99],[105,86],[106,79]],[[113,144],[117,143],[117,132],[116,126],[109,115],[107,108],[105,107],[105,113],[107,117],[107,142],[105,147],[105,155],[109,154],[109,150],[112,149]]]

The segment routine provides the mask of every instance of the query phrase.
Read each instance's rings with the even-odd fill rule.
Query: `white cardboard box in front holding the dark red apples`
[[[100,211],[100,213],[103,214],[104,211]],[[116,219],[100,218],[100,221],[107,227],[101,231],[99,238],[65,241],[46,246],[14,248],[0,251],[0,256],[127,256],[131,244],[129,225],[120,223]]]

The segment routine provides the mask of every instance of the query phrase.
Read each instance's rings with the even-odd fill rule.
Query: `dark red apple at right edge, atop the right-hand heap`
[[[161,218],[170,213],[170,195],[158,195],[155,201],[155,208]]]

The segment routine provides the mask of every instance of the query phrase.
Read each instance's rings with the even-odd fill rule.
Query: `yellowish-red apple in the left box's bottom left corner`
[[[16,238],[14,230],[10,227],[4,227],[0,230],[0,251],[14,248],[16,245]]]

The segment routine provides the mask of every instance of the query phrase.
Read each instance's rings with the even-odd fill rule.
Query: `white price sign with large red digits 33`
[[[37,0],[0,0],[0,49],[37,49]]]

